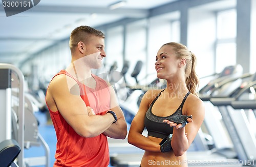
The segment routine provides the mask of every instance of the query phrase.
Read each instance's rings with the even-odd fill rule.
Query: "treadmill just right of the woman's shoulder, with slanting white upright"
[[[219,77],[211,80],[199,91],[199,97],[205,104],[205,119],[202,127],[205,126],[206,131],[214,140],[214,149],[211,151],[226,158],[237,158],[237,152],[233,149],[230,135],[225,129],[219,111],[212,105],[210,99],[216,96],[229,97],[243,80],[249,80],[250,76],[251,74],[243,74],[241,65],[227,66]]]

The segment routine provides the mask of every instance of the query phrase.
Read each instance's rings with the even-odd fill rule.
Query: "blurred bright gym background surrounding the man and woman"
[[[164,88],[156,54],[175,41],[197,56],[205,105],[188,166],[256,166],[255,0],[45,0],[13,15],[2,2],[1,166],[53,166],[56,134],[45,93],[70,64],[69,36],[80,25],[105,34],[106,57],[93,73],[112,83],[128,131],[143,94]],[[140,165],[143,150],[127,138],[108,141],[109,166]]]

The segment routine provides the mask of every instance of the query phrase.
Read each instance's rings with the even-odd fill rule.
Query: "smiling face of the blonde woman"
[[[178,70],[180,60],[177,59],[173,47],[165,45],[159,49],[156,56],[155,69],[157,77],[168,79],[173,77]]]

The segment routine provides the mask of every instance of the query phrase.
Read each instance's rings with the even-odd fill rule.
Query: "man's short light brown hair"
[[[91,35],[105,38],[105,35],[103,32],[96,30],[95,28],[92,28],[90,26],[79,26],[75,28],[71,32],[70,40],[69,40],[69,47],[71,52],[77,46],[79,41],[82,41],[84,44],[86,44],[89,41]]]

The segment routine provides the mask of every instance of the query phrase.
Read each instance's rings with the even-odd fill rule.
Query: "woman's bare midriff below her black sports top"
[[[158,143],[162,141],[162,139],[152,137],[152,136],[148,136],[147,138]],[[186,157],[186,153],[184,153],[182,156],[176,157],[173,151],[167,152],[167,153],[145,151],[141,160],[141,166],[142,167],[146,167],[146,166],[187,167],[187,157]]]

